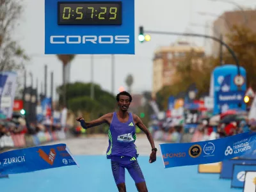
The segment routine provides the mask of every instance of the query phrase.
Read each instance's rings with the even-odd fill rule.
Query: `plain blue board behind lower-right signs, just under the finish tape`
[[[232,179],[234,164],[256,164],[256,159],[229,159],[223,161],[220,179]]]

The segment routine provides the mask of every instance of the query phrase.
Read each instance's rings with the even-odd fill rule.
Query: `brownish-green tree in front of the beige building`
[[[193,51],[186,54],[184,60],[180,61],[175,68],[173,83],[170,86],[164,86],[156,93],[156,102],[159,109],[166,110],[168,98],[171,95],[176,97],[178,93],[186,92],[191,83],[196,84],[198,97],[202,93],[209,92],[211,73],[217,65],[220,65],[218,58],[211,56],[199,58]]]

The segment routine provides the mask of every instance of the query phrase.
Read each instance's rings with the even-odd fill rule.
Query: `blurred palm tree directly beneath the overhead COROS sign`
[[[66,98],[66,74],[65,74],[65,67],[75,58],[75,54],[57,54],[58,59],[62,62],[62,83],[63,83],[63,106],[67,106],[67,98]]]

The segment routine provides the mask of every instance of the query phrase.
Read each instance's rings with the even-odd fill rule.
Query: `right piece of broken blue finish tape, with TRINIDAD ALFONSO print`
[[[164,168],[217,163],[250,154],[256,148],[256,132],[244,132],[218,140],[159,144]]]

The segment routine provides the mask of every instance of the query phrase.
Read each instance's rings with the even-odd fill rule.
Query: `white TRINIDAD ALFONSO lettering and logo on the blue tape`
[[[233,153],[239,154],[246,150],[250,150],[251,147],[247,141],[248,141],[248,139],[237,141],[234,143],[232,148],[230,146],[228,146],[227,149],[225,150],[225,156],[232,155]]]

